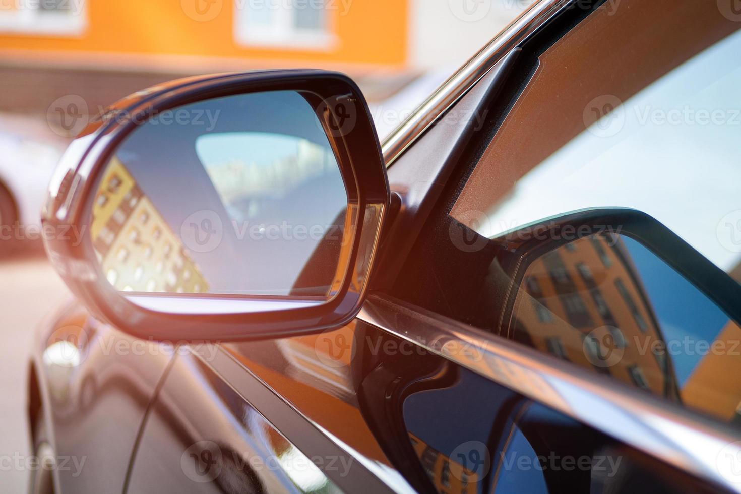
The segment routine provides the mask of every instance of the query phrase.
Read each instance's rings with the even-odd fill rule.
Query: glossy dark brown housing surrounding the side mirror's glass
[[[93,199],[122,142],[153,115],[226,96],[273,91],[311,95],[348,196],[337,275],[326,300],[207,293],[126,296],[107,281],[90,235]],[[53,266],[94,316],[138,338],[244,341],[346,324],[368,287],[391,195],[379,140],[362,93],[347,76],[322,70],[222,74],[171,81],[114,104],[62,156],[42,211]],[[70,234],[74,233],[74,234]]]

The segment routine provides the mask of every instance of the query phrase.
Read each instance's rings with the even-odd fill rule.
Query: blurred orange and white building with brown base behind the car
[[[481,2],[472,21],[448,0],[0,0],[0,112],[77,95],[96,114],[177,77],[288,67],[348,73],[384,101],[451,73],[517,6]]]

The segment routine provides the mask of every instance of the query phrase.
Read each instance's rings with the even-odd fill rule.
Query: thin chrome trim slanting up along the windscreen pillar
[[[445,111],[468,93],[507,53],[522,44],[543,24],[554,18],[575,0],[539,0],[521,13],[479,53],[442,83],[387,138],[381,146],[386,167],[416,141]]]

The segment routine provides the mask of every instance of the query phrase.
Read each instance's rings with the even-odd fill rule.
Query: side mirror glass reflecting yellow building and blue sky
[[[316,99],[273,91],[151,112],[93,198],[102,276],[142,296],[330,298],[353,232]]]

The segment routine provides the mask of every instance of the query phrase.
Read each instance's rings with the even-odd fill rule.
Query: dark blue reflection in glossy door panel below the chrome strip
[[[402,379],[396,378],[393,390]],[[699,487],[469,370],[441,367],[433,380],[409,384],[425,389],[403,398],[405,427],[439,493],[668,493]]]

